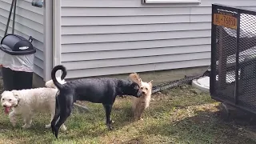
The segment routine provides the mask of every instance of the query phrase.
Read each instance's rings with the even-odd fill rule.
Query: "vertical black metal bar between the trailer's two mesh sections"
[[[237,48],[236,48],[236,58],[235,58],[235,88],[234,88],[234,104],[238,104],[239,95],[239,50],[240,50],[240,11],[238,10],[238,26],[237,26]]]

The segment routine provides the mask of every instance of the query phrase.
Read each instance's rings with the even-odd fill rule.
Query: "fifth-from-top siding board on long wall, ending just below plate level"
[[[131,33],[131,34],[62,35],[62,44],[89,43],[89,42],[127,42],[127,41],[172,39],[172,38],[196,38],[196,37],[210,37],[210,30],[189,30],[189,31]]]

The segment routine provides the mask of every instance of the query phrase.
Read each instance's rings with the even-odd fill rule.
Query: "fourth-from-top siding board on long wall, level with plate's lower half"
[[[210,30],[211,22],[166,23],[116,26],[62,26],[62,35],[69,34],[119,34],[138,32],[163,32],[173,30]]]

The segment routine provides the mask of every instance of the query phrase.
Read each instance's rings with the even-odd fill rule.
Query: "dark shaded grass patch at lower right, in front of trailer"
[[[220,106],[215,108],[220,109]],[[231,117],[230,122],[225,122],[221,117],[222,111],[198,110],[195,113],[194,116],[178,122],[170,120],[155,123],[147,126],[141,133],[168,136],[174,138],[174,142],[185,143],[255,143],[239,133],[239,126],[234,126],[240,122],[249,125],[250,117],[240,114]]]

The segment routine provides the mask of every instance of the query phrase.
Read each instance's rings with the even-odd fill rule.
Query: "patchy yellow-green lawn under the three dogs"
[[[74,110],[66,121],[68,130],[60,132],[58,140],[44,128],[50,114],[37,114],[33,126],[22,130],[21,119],[12,127],[0,110],[0,143],[255,143],[244,138],[234,123],[219,118],[218,102],[208,94],[194,94],[190,86],[154,94],[142,121],[131,118],[130,102],[129,97],[117,98],[112,131],[106,130],[102,105],[87,102],[90,113]]]

